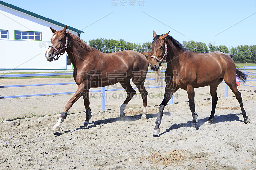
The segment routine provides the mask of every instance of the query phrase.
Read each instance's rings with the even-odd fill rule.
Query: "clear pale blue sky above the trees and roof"
[[[215,42],[215,45],[226,45],[228,48],[256,44],[255,0],[144,0],[140,6],[139,2],[143,0],[4,2],[80,29],[85,32],[81,38],[87,42],[90,39],[106,38],[142,44],[152,41],[155,30],[157,34],[171,31],[169,35],[181,43],[193,40],[208,45],[209,42]],[[116,2],[118,6],[114,6]],[[132,2],[135,6],[130,6]]]

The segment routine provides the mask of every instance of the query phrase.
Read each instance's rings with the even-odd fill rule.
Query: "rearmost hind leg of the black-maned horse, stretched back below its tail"
[[[225,81],[226,82],[226,81]],[[243,100],[242,100],[242,97],[241,97],[241,93],[238,91],[237,87],[236,87],[236,79],[234,80],[233,83],[228,83],[226,82],[226,84],[229,86],[229,88],[232,90],[232,92],[235,94],[236,96],[236,99],[237,101],[239,102],[240,104],[240,107],[241,107],[241,111],[242,111],[242,115],[243,115],[243,118],[244,118],[244,123],[250,123],[250,119],[248,116],[246,116],[246,112],[244,110],[244,107],[243,107]]]

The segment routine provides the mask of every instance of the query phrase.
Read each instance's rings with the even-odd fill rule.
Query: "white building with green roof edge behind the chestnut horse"
[[[0,1],[0,21],[0,70],[72,69],[67,55],[61,55],[58,62],[48,62],[44,55],[51,44],[49,26],[60,30],[66,24],[3,1]],[[67,31],[79,37],[84,33],[70,26]]]

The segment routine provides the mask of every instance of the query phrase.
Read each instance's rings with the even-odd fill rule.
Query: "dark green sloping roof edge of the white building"
[[[14,6],[14,5],[12,5],[12,4],[8,4],[8,3],[3,2],[3,1],[0,1],[0,4],[1,4],[1,5],[4,5],[4,6],[6,6],[6,7],[12,8],[12,9],[14,9],[14,10],[23,12],[23,13],[25,13],[25,14],[31,15],[31,16],[33,16],[33,17],[42,19],[42,20],[44,20],[44,21],[50,22],[50,23],[52,23],[52,24],[58,25],[58,26],[61,26],[61,27],[65,27],[65,26],[66,26],[65,24],[61,24],[60,22],[57,22],[57,21],[54,21],[54,20],[52,20],[52,19],[43,17],[43,16],[41,16],[41,15],[35,14],[35,13],[33,13],[33,12],[30,12],[30,11],[24,10],[24,9],[19,8],[19,7],[17,7],[17,6]],[[72,30],[72,31],[75,31],[76,33],[80,33],[80,34],[81,34],[81,33],[84,33],[84,31],[78,30],[78,29],[73,28],[73,27],[71,27],[71,26],[68,26],[67,29]]]

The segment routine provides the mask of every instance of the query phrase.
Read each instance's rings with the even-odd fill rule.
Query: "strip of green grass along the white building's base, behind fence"
[[[10,73],[0,73],[2,75],[4,74],[38,74],[38,73],[67,73],[66,71],[60,71],[60,72],[10,72]],[[2,79],[30,79],[30,78],[73,78],[73,75],[65,75],[65,76],[33,76],[33,77],[4,77],[0,78]]]

